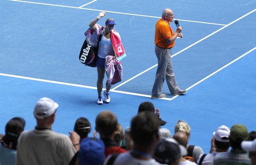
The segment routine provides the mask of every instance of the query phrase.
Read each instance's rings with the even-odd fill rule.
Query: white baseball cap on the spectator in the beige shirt
[[[58,104],[52,99],[43,97],[36,103],[34,115],[36,118],[45,118],[51,116],[57,110]]]

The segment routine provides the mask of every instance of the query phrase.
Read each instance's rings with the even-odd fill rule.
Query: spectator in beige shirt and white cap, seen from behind
[[[70,162],[80,137],[75,132],[70,132],[69,138],[52,131],[57,108],[58,104],[47,97],[37,101],[34,109],[37,126],[19,136],[16,165],[67,165]]]

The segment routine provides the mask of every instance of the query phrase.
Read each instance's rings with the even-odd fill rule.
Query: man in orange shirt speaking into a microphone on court
[[[155,54],[158,60],[158,66],[155,76],[155,83],[152,89],[152,99],[166,97],[162,94],[163,84],[166,79],[168,88],[173,95],[181,95],[186,90],[181,90],[175,81],[173,72],[173,64],[171,63],[171,48],[175,44],[177,37],[182,38],[183,34],[180,33],[182,28],[178,27],[175,31],[170,27],[170,22],[173,22],[174,14],[171,9],[164,9],[162,18],[156,22],[155,29]]]

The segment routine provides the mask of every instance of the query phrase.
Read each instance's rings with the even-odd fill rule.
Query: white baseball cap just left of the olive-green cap
[[[230,129],[227,126],[218,127],[215,132],[213,132],[213,137],[219,142],[229,142]]]

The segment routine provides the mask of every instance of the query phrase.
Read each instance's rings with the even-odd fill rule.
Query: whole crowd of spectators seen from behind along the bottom
[[[171,135],[151,102],[139,105],[127,128],[113,112],[101,111],[92,137],[86,117],[75,121],[69,137],[52,130],[57,108],[52,99],[39,99],[33,110],[37,123],[33,130],[24,129],[24,118],[11,118],[0,136],[0,165],[256,164],[256,132],[248,132],[240,123],[216,128],[211,149],[204,153],[189,143],[188,123],[178,120]]]

